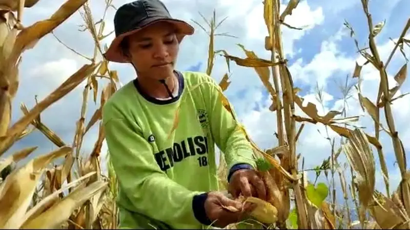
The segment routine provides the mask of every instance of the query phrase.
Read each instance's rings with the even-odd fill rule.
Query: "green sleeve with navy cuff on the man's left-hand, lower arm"
[[[120,190],[134,212],[174,227],[210,223],[204,215],[207,193],[190,191],[162,172],[136,123],[126,118],[106,118],[104,127]]]

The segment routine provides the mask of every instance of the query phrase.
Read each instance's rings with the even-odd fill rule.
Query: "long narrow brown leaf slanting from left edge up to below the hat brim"
[[[86,64],[81,67],[76,73],[71,75],[63,84],[55,89],[47,98],[36,104],[23,118],[19,119],[14,125],[9,128],[4,140],[0,142],[0,156],[12,145],[16,138],[26,129],[26,127],[35,119],[43,110],[52,103],[58,101],[73,90],[85,78],[94,72],[97,65]]]

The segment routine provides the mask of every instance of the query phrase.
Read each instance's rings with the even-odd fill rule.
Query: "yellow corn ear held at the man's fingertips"
[[[251,216],[257,221],[265,224],[276,222],[278,211],[271,203],[256,197],[248,197],[245,202],[256,204],[256,208],[252,211]]]

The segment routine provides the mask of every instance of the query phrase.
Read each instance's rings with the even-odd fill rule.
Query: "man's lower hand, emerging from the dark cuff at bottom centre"
[[[238,212],[231,212],[223,206],[233,206]],[[209,192],[205,201],[205,212],[215,227],[226,227],[228,224],[237,223],[252,212],[255,208],[251,203],[245,203],[229,199],[220,192]]]

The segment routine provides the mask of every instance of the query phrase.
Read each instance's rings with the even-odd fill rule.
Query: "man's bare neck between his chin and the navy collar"
[[[165,79],[165,84],[167,84],[171,92],[174,91],[175,83],[177,78],[174,73]],[[144,75],[138,74],[138,83],[141,89],[145,91],[150,97],[153,98],[169,98],[168,90],[166,86],[157,79],[152,79]]]

